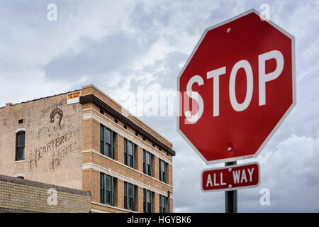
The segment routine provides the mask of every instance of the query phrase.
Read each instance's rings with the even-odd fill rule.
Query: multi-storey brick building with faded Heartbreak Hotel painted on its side
[[[0,175],[90,192],[91,211],[172,212],[174,155],[94,85],[0,108]]]

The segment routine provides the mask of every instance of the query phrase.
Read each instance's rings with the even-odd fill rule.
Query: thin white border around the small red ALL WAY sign
[[[226,189],[210,189],[210,190],[204,190],[203,189],[203,172],[210,171],[210,170],[221,170],[221,169],[229,169],[233,167],[240,167],[243,165],[253,165],[256,164],[258,166],[258,183],[254,185],[249,185],[249,186],[242,186],[242,187],[231,187],[231,188],[226,188]],[[228,166],[223,166],[223,167],[216,167],[216,168],[209,168],[206,170],[201,171],[201,192],[220,192],[220,191],[234,191],[238,189],[248,189],[252,187],[258,187],[260,184],[260,165],[259,162],[249,162],[249,163],[244,163],[240,165],[228,165]]]

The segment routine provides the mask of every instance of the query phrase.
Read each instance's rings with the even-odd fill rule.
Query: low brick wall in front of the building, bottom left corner
[[[0,175],[0,212],[89,213],[90,209],[90,192]]]

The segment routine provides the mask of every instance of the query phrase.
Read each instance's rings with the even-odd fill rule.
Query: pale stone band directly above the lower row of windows
[[[101,167],[99,165],[96,165],[96,164],[90,162],[90,163],[82,164],[82,170],[96,170],[96,171],[99,171],[99,172],[103,172],[106,175],[110,175],[111,177],[116,177],[116,178],[121,179],[121,180],[123,180],[125,182],[129,182],[131,184],[135,184],[136,186],[142,187],[143,189],[150,190],[152,192],[155,192],[157,194],[161,194],[161,195],[166,196],[166,197],[168,196],[167,192],[162,192],[161,190],[156,189],[155,187],[152,187],[150,185],[138,182],[137,180],[133,179],[133,177],[126,177],[124,175],[121,175],[118,172],[112,171],[111,168],[106,169],[104,167]],[[173,199],[173,196],[171,195],[170,198]]]

